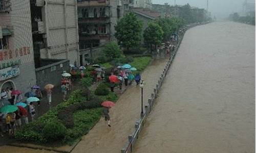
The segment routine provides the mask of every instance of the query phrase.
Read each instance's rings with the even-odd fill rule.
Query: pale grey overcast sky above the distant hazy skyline
[[[177,5],[189,4],[190,6],[205,8],[207,0],[176,0]],[[253,0],[247,0],[247,2]],[[227,17],[232,12],[241,12],[244,0],[208,0],[209,11],[218,18]],[[254,1],[255,2],[255,1]],[[174,0],[153,0],[153,4],[168,3],[174,5]]]

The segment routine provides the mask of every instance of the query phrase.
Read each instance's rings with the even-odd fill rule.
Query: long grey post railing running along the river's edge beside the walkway
[[[204,22],[201,24],[206,24],[206,23],[208,23],[208,22]],[[133,151],[134,144],[136,143],[137,139],[139,138],[140,131],[142,130],[142,127],[144,126],[144,122],[146,121],[147,115],[151,112],[151,110],[154,106],[155,99],[157,98],[157,95],[158,95],[159,90],[163,84],[164,78],[166,77],[166,74],[170,68],[170,65],[172,64],[172,62],[176,56],[177,50],[179,49],[179,46],[183,39],[185,31],[189,28],[195,27],[196,25],[199,25],[199,24],[198,23],[190,24],[190,25],[186,25],[185,28],[183,28],[185,30],[181,34],[178,44],[177,44],[176,48],[174,49],[174,52],[172,52],[172,55],[170,55],[169,60],[167,61],[166,65],[163,69],[163,72],[161,73],[160,78],[156,84],[156,87],[154,88],[153,93],[151,93],[151,97],[148,98],[147,104],[144,106],[145,107],[144,114],[143,114],[143,116],[141,116],[141,118],[138,121],[135,122],[135,130],[131,135],[128,136],[128,143],[126,143],[126,145],[121,149],[121,153],[129,153],[129,152]]]

